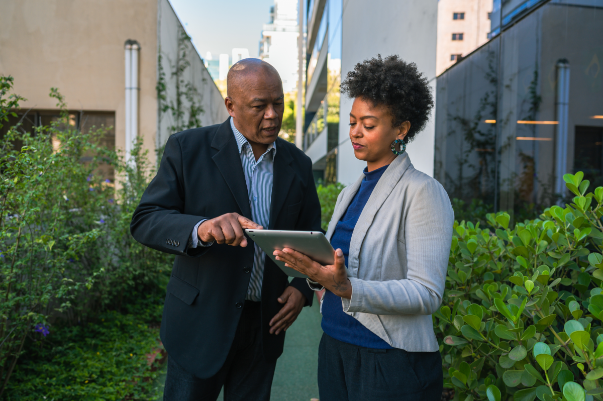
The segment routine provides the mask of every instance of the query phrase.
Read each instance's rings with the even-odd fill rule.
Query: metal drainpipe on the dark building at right
[[[569,61],[557,62],[557,137],[555,138],[555,192],[565,197],[567,191],[563,174],[567,172],[567,119],[569,113]],[[561,201],[563,204],[563,201]]]

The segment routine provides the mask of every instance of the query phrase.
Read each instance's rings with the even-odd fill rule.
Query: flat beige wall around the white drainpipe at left
[[[154,159],[157,131],[157,0],[0,0],[0,74],[14,77],[22,107],[115,112],[125,144],[124,42],[140,43],[139,134]]]

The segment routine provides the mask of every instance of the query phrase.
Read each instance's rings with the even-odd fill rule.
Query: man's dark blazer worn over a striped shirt
[[[222,367],[241,317],[253,267],[247,247],[213,244],[187,249],[201,219],[236,212],[251,219],[247,184],[230,119],[223,124],[182,131],[169,137],[157,175],[134,211],[134,238],[176,255],[168,283],[160,335],[169,355],[200,378]],[[320,202],[312,162],[302,151],[277,139],[270,224],[267,229],[320,230]],[[282,308],[277,298],[294,286],[312,305],[305,279],[288,277],[266,257],[262,282],[262,344],[274,361],[283,352],[285,333],[269,333],[268,322]]]

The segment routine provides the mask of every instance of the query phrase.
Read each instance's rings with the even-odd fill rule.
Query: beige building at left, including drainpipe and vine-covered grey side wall
[[[74,124],[113,127],[124,151],[142,137],[152,160],[170,134],[228,116],[168,0],[4,1],[0,74],[27,98],[27,124],[57,118],[57,87]]]

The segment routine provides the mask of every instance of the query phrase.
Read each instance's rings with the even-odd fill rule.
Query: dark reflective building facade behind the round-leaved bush
[[[495,1],[492,21],[437,78],[435,178],[519,216],[563,204],[567,172],[603,185],[603,1]]]

